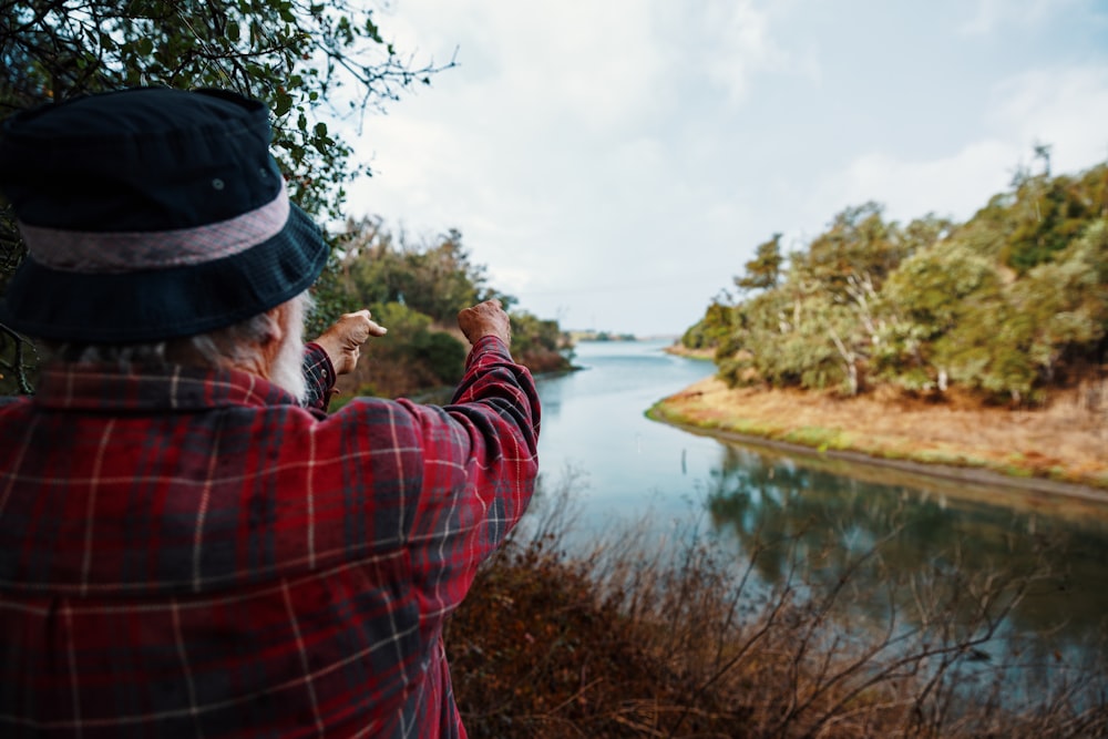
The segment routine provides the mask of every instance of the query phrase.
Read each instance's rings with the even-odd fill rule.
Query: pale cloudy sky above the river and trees
[[[366,120],[348,211],[458,228],[563,328],[680,333],[774,232],[966,219],[1035,144],[1108,160],[1105,0],[392,0],[458,66]]]

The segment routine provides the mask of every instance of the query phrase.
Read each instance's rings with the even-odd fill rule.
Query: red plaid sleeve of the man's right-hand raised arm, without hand
[[[451,404],[409,408],[423,470],[408,548],[421,610],[433,618],[461,603],[478,566],[525,512],[538,473],[541,410],[531,372],[493,336],[474,345]]]

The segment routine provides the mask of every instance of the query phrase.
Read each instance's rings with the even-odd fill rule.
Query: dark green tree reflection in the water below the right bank
[[[753,560],[769,585],[781,583],[799,561],[808,577],[833,587],[880,542],[880,556],[851,579],[861,594],[854,613],[881,620],[888,617],[885,602],[865,594],[884,592],[893,576],[903,584],[955,573],[957,582],[968,583],[1046,569],[1049,574],[1036,578],[1013,608],[1006,633],[1037,635],[1046,651],[1076,655],[1100,648],[1095,645],[1108,614],[1108,588],[1102,587],[1108,526],[1101,517],[1080,523],[1046,517],[973,495],[844,476],[735,445],[724,448],[711,475],[707,509],[715,526]],[[956,492],[974,491],[961,485]],[[917,594],[911,587],[894,591],[902,615],[911,617]]]

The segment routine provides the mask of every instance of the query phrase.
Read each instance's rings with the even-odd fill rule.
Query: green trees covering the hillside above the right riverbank
[[[1017,172],[966,223],[888,220],[848,207],[784,255],[781,235],[681,338],[715,349],[732,387],[879,384],[991,401],[1045,400],[1102,377],[1108,359],[1108,164]]]

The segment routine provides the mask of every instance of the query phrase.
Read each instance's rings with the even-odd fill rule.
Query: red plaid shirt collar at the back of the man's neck
[[[283,388],[239,370],[53,365],[39,378],[34,402],[55,410],[165,411],[228,406],[298,406]]]

